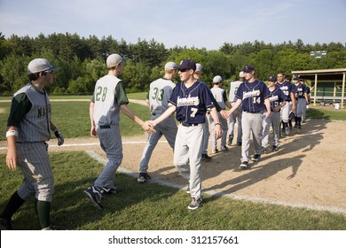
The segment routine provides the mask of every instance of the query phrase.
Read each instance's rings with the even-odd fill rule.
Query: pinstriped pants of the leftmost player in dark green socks
[[[37,200],[51,202],[54,179],[47,149],[44,142],[17,143],[18,167],[24,176],[18,190],[20,198],[28,200],[35,194]]]

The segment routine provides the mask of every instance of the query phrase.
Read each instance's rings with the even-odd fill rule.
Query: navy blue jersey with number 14
[[[266,109],[264,99],[271,97],[268,87],[263,81],[244,81],[240,84],[236,96],[242,100],[241,110],[245,112],[261,112]]]

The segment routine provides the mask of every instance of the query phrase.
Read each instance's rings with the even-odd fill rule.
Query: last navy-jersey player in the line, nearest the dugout
[[[309,102],[308,94],[306,93],[306,86],[299,81],[299,76],[295,75],[295,102],[297,103],[295,109],[295,128],[302,128],[302,115],[303,110],[306,109],[306,103]]]

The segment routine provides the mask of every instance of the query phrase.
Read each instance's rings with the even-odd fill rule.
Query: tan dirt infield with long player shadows
[[[240,147],[212,155],[202,164],[203,190],[279,205],[326,209],[346,213],[345,122],[308,120],[281,139],[280,150],[250,162],[240,170]],[[123,137],[122,167],[138,172],[146,135]],[[4,153],[5,142],[0,142]],[[209,146],[210,147],[210,146]],[[98,139],[67,139],[62,147],[50,142],[50,151],[97,151],[105,158]],[[250,155],[253,154],[252,146]],[[155,179],[185,185],[172,164],[172,150],[162,139],[153,151],[149,173]],[[136,179],[134,179],[136,181]]]

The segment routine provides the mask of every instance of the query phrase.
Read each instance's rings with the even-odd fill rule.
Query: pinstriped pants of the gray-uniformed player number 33
[[[152,116],[151,120],[155,120],[160,115]],[[139,172],[146,173],[148,170],[149,160],[152,157],[153,149],[156,144],[161,139],[161,136],[165,136],[170,147],[174,149],[174,144],[176,142],[177,136],[177,123],[174,119],[174,115],[171,115],[169,118],[162,120],[156,127],[156,133],[148,134],[148,139],[145,143],[145,148],[142,153],[142,157],[139,162]]]

